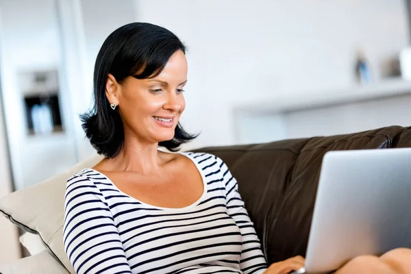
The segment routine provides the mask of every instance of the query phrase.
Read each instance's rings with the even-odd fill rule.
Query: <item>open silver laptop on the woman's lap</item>
[[[306,266],[329,273],[360,255],[411,248],[411,148],[325,153]]]

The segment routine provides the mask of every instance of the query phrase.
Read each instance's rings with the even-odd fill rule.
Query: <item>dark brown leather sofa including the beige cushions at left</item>
[[[394,147],[411,147],[411,127],[196,151],[217,155],[229,166],[271,264],[306,255],[321,162],[327,151]],[[44,247],[32,256],[0,266],[0,273],[74,273],[62,245],[64,188],[75,171],[99,160],[101,156],[95,155],[65,173],[0,200],[0,212]],[[30,245],[36,240],[26,240],[23,245],[34,249]]]

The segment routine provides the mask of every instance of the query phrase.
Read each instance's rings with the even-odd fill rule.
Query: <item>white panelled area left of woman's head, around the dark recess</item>
[[[92,71],[103,40],[134,21],[134,1],[0,2],[1,75],[14,184],[17,189],[64,171],[95,150],[79,114],[90,108]],[[25,7],[22,9],[22,7]],[[59,69],[64,134],[27,136],[18,71]],[[53,166],[50,169],[50,166]]]

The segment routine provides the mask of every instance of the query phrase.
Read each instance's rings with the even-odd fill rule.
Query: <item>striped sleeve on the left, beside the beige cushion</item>
[[[132,273],[108,204],[82,175],[67,182],[63,239],[77,274]]]

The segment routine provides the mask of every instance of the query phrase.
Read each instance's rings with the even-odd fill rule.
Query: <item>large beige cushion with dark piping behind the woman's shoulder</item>
[[[77,171],[95,166],[102,158],[94,155],[60,175],[0,199],[0,212],[18,227],[38,234],[47,250],[73,274],[75,272],[63,246],[66,181]]]

